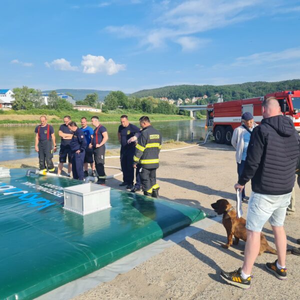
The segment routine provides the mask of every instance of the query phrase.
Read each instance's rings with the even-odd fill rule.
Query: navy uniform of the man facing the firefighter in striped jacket
[[[139,128],[133,124],[128,124],[124,127],[119,125],[118,132],[120,134],[120,162],[123,172],[123,182],[127,185],[133,185],[134,168],[132,166],[132,159],[135,151],[135,142],[127,143],[127,140],[139,132]]]

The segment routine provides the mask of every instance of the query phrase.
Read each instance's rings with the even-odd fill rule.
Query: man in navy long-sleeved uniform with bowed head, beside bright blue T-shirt
[[[72,174],[74,179],[83,180],[83,160],[85,156],[86,139],[81,129],[73,121],[68,123],[68,128],[73,132],[70,142],[70,149],[72,152]]]

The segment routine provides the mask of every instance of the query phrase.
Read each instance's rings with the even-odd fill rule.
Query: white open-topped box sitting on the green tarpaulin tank
[[[83,183],[63,188],[64,209],[85,215],[111,207],[110,187]]]

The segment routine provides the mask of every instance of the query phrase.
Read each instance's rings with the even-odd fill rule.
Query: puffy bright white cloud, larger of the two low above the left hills
[[[125,69],[125,64],[115,63],[111,58],[106,60],[103,56],[95,56],[87,54],[82,56],[81,65],[83,66],[83,73],[98,73],[105,72],[108,75],[117,73]]]

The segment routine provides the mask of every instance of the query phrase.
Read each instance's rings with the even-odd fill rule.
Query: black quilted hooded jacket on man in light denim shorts
[[[252,131],[238,183],[245,185],[251,179],[252,190],[262,194],[291,192],[300,153],[299,141],[290,118],[276,115],[262,119]]]

